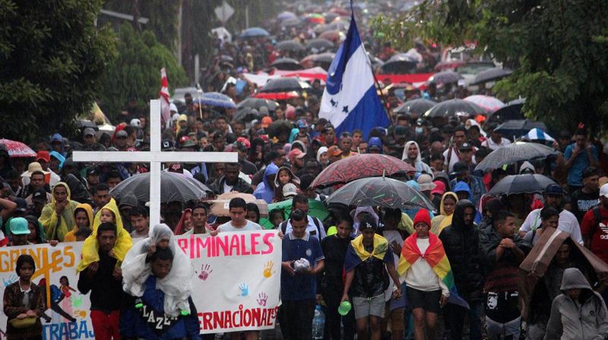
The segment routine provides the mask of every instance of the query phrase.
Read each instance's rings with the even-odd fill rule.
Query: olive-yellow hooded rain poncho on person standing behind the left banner
[[[55,204],[57,203],[55,202],[54,194],[55,189],[60,186],[66,188],[67,205],[63,209],[63,212],[61,212],[61,216],[58,216],[57,213],[55,213]],[[52,194],[50,203],[44,206],[38,221],[40,221],[44,228],[44,234],[46,234],[47,240],[58,240],[63,242],[67,232],[71,231],[74,224],[76,224],[74,221],[74,209],[78,206],[78,202],[70,199],[70,187],[64,182],[55,184]]]

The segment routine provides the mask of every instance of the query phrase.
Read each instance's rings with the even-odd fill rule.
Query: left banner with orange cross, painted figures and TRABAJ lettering
[[[36,272],[32,282],[44,286],[47,310],[41,322],[43,339],[94,339],[89,308],[89,294],[78,292],[76,265],[80,260],[83,242],[59,243],[57,246],[31,245],[0,248],[0,277],[4,290],[19,278],[15,271],[21,254],[32,255]],[[5,339],[7,316],[0,313],[0,340]]]

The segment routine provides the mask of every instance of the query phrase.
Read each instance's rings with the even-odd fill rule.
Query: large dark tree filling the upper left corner
[[[100,0],[0,0],[0,137],[66,131],[90,109],[114,41]]]

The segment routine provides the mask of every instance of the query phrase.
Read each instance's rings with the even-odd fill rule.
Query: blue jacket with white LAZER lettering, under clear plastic
[[[125,308],[120,313],[120,334],[129,338],[140,339],[169,340],[188,338],[200,340],[198,313],[196,312],[192,298],[188,298],[188,300],[190,301],[190,315],[180,316],[173,325],[167,326],[167,330],[164,330],[164,332],[160,331],[159,333],[155,330],[157,322],[148,323],[142,315],[142,310],[135,308],[135,304],[132,304],[133,307]],[[142,301],[146,305],[146,314],[144,315],[147,318],[150,318],[150,313],[154,313],[154,319],[165,317],[165,293],[156,289],[156,276],[151,275],[146,280]],[[169,318],[168,316],[166,317]]]

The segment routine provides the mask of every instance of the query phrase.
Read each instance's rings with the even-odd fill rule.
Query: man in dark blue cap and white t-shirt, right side
[[[562,201],[564,200],[564,190],[558,184],[549,184],[544,192],[545,206],[554,207],[559,211],[558,230],[570,234],[572,240],[583,244],[581,235],[581,226],[576,220],[576,216],[568,210],[562,209]],[[526,220],[523,221],[519,228],[519,235],[525,235],[528,231],[534,230],[541,225],[541,210],[532,210]]]

